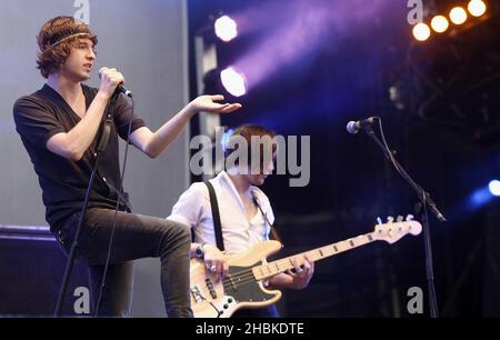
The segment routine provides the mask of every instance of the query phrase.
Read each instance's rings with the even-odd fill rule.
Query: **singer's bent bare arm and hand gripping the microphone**
[[[89,149],[101,123],[102,114],[117,86],[123,76],[114,69],[102,72],[101,87],[86,116],[69,132],[52,136],[47,149],[69,160],[78,161]]]

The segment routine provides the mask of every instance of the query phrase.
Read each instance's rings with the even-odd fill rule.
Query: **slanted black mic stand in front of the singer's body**
[[[101,138],[99,141],[99,144],[96,149],[96,162],[93,163],[93,169],[92,169],[92,173],[90,176],[90,180],[89,180],[89,186],[87,188],[87,192],[86,192],[86,198],[83,201],[83,206],[81,208],[81,213],[80,213],[80,219],[78,221],[78,228],[77,228],[77,232],[74,234],[74,240],[73,243],[71,244],[71,250],[70,253],[68,256],[68,261],[66,263],[66,270],[64,270],[64,276],[62,278],[62,283],[61,283],[61,288],[59,290],[59,296],[58,296],[58,302],[56,306],[56,311],[54,311],[54,317],[58,318],[61,316],[61,310],[62,310],[62,303],[64,302],[64,296],[66,296],[66,290],[68,288],[68,282],[69,282],[69,278],[71,276],[71,270],[73,268],[73,263],[74,263],[74,257],[77,254],[77,249],[78,249],[78,240],[80,239],[80,233],[81,233],[81,229],[83,226],[83,219],[84,219],[84,214],[87,211],[87,207],[89,204],[89,198],[90,198],[90,191],[92,189],[93,186],[93,181],[96,179],[96,173],[97,173],[97,169],[99,166],[99,160],[101,158],[101,153],[102,151],[104,151],[106,146],[108,144],[108,140],[109,140],[109,134],[110,134],[110,130],[111,130],[111,113],[114,109],[114,104],[118,100],[118,96],[120,94],[120,92],[117,90],[113,96],[111,97],[110,103],[108,106],[108,110],[107,110],[107,118],[104,120],[104,124],[102,127],[102,133],[101,133]]]

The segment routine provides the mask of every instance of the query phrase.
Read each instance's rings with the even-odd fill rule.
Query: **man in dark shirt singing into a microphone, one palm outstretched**
[[[108,116],[112,121],[77,253],[77,259],[89,267],[94,307],[120,196],[118,136],[127,140],[131,121],[130,142],[154,158],[176,140],[197,112],[230,113],[241,107],[239,103],[218,103],[223,100],[222,96],[201,96],[156,132],[134,116],[122,96],[113,106],[114,110],[107,112],[110,98],[119,86],[124,84],[124,78],[116,69],[102,69],[99,89],[83,84],[94,66],[97,42],[90,28],[71,17],[57,17],[44,23],[38,34],[37,64],[47,83],[39,91],[18,99],[13,107],[16,129],[42,189],[46,219],[64,253],[69,252],[74,239],[101,122]],[[161,288],[168,316],[191,317],[190,242],[190,230],[186,226],[131,213],[130,204],[123,202],[116,220],[99,316],[129,316],[131,261],[157,257],[161,260]]]

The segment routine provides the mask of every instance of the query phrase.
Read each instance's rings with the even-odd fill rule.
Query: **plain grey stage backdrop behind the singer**
[[[44,21],[59,14],[89,22],[99,36],[88,83],[98,87],[103,66],[121,70],[134,93],[136,112],[151,129],[189,98],[186,0],[1,0],[0,224],[47,224],[38,180],[14,130],[12,104],[42,87],[36,36]],[[188,186],[188,132],[156,160],[130,149],[126,190],[136,212],[168,216]],[[137,261],[133,316],[164,314],[159,281],[158,259]]]

